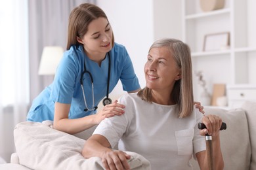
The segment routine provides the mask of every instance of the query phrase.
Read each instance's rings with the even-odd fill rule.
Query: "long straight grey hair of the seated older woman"
[[[170,56],[175,59],[177,67],[181,69],[181,78],[175,82],[170,95],[178,105],[179,118],[190,116],[194,107],[190,48],[177,39],[160,39],[150,46],[150,50],[159,47],[168,48]],[[152,90],[150,88],[143,88],[138,92],[138,95],[142,100],[152,103]]]

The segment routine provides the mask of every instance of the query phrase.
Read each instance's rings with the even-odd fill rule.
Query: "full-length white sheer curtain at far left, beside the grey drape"
[[[0,20],[0,156],[9,161],[29,103],[27,0],[1,1]]]

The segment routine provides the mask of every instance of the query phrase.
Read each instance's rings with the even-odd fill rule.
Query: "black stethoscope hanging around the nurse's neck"
[[[77,55],[76,49],[75,49],[75,53]],[[83,56],[84,56],[84,59],[85,59],[85,52],[83,52]],[[108,52],[108,85],[107,85],[107,90],[106,90],[106,97],[102,101],[104,106],[109,105],[109,104],[112,103],[112,100],[108,97],[109,88],[110,88],[110,69],[111,69],[110,65],[111,65],[110,53]],[[85,75],[86,73],[89,75],[89,77],[91,79],[91,88],[92,88],[92,96],[93,96],[93,106],[91,107],[91,109],[89,109],[89,107],[87,106],[86,97],[85,97],[85,90],[83,88],[83,75]],[[84,111],[87,112],[87,111],[92,111],[92,110],[98,109],[98,106],[95,106],[95,93],[94,93],[94,87],[93,87],[93,75],[91,75],[91,73],[89,71],[87,71],[85,61],[83,62],[83,72],[81,73],[80,84],[81,84],[81,88],[82,88],[82,92],[83,92],[83,100],[85,101],[85,107],[86,107],[84,109]]]

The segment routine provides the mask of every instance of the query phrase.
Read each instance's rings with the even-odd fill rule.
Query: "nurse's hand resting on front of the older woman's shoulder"
[[[104,118],[110,118],[116,115],[122,115],[125,113],[123,110],[125,108],[125,105],[122,105],[120,103],[117,103],[117,100],[114,101],[112,104],[106,105],[103,107],[102,110],[97,112],[96,115],[96,124],[99,124]]]

